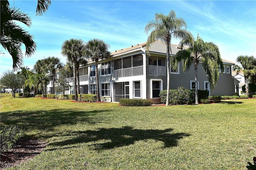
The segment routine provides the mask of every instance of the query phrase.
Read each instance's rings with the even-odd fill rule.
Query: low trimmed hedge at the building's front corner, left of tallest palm
[[[151,106],[153,101],[150,99],[126,99],[119,100],[119,104],[122,106]]]

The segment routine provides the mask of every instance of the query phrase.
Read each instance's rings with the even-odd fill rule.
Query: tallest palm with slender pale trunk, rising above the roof
[[[187,24],[183,18],[177,18],[174,10],[171,10],[167,16],[164,14],[155,14],[155,20],[151,20],[145,27],[145,32],[148,34],[146,49],[148,51],[150,44],[156,40],[161,40],[166,43],[166,61],[167,61],[167,96],[166,106],[169,105],[169,90],[170,90],[170,49],[172,37],[185,39],[191,36],[191,33],[186,30]],[[149,52],[148,52],[149,55]]]

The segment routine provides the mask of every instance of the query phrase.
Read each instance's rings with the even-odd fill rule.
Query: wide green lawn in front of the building
[[[48,143],[23,169],[59,170],[246,169],[256,156],[255,104],[124,107],[0,97],[2,124]]]

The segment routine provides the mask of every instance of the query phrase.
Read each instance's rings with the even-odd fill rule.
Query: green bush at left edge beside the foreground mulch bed
[[[0,152],[5,152],[12,149],[16,141],[24,135],[24,130],[20,129],[18,126],[6,126],[1,127],[0,130]]]

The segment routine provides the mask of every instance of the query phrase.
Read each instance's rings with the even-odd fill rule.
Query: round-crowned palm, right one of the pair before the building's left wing
[[[100,39],[92,39],[85,45],[85,56],[95,62],[95,76],[96,76],[96,90],[97,102],[100,102],[100,88],[98,76],[98,61],[110,57],[108,48],[110,45],[106,44]]]

